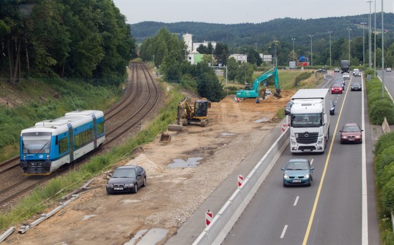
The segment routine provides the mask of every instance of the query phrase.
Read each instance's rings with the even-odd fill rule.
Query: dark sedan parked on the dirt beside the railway
[[[124,165],[116,168],[108,175],[107,194],[136,193],[139,187],[146,186],[146,171],[135,165]]]

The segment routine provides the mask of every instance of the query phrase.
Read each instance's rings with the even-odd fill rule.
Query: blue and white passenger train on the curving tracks
[[[105,139],[102,111],[65,113],[20,132],[19,166],[24,175],[49,175],[96,149]]]

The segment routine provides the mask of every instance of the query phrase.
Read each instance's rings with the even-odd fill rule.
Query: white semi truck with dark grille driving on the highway
[[[291,153],[324,153],[330,134],[329,96],[329,89],[300,89],[291,97]]]

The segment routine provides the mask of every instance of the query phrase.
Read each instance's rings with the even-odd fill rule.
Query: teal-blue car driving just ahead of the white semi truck
[[[284,187],[289,185],[306,185],[310,187],[314,168],[309,160],[303,158],[291,159],[282,170],[284,170]]]

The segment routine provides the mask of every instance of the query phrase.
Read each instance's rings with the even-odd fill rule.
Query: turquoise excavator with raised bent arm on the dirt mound
[[[274,81],[275,81],[275,89],[277,89],[277,92],[274,93],[274,96],[277,98],[281,98],[281,87],[279,84],[279,75],[278,75],[278,69],[272,68],[271,70],[268,70],[267,72],[263,73],[262,75],[258,76],[254,81],[252,86],[246,86],[245,89],[241,89],[236,92],[236,97],[237,98],[258,98],[262,97],[262,99],[265,99],[265,91],[267,90],[266,87],[260,89],[260,83],[264,82],[267,80],[269,77],[274,76]]]

